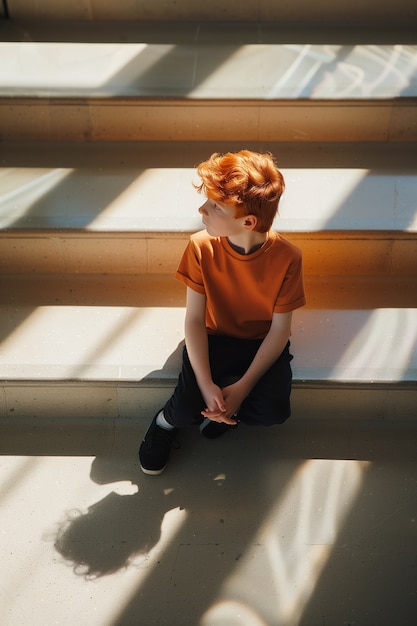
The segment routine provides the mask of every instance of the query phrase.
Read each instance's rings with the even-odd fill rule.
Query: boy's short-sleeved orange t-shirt
[[[191,236],[175,277],[206,296],[207,332],[263,339],[273,313],[305,304],[301,250],[279,233],[243,255],[226,237]]]

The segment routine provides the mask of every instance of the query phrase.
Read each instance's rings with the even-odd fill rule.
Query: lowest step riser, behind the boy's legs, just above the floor
[[[168,400],[176,379],[138,383],[116,381],[0,383],[0,431],[22,433],[54,425],[68,434],[74,423],[88,429],[97,423],[110,434],[116,425],[147,425]],[[292,418],[349,422],[416,419],[416,382],[331,383],[294,380]],[[23,435],[22,435],[23,436]],[[0,438],[1,439],[1,438]]]

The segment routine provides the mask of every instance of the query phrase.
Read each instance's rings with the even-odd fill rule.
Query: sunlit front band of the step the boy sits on
[[[0,380],[170,381],[182,307],[2,307]],[[417,381],[417,309],[294,312],[294,379]]]

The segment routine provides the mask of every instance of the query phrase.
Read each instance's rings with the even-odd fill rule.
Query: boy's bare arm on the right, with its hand
[[[205,417],[224,422],[226,418],[237,413],[243,400],[285,348],[291,332],[291,319],[291,312],[274,313],[271,328],[245,374],[237,382],[222,390],[226,411],[221,413],[216,410],[203,411]]]

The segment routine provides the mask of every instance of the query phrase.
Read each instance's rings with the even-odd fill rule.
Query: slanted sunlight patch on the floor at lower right
[[[201,626],[298,624],[369,465],[321,459],[303,463]],[[248,615],[247,621],[242,615]]]

